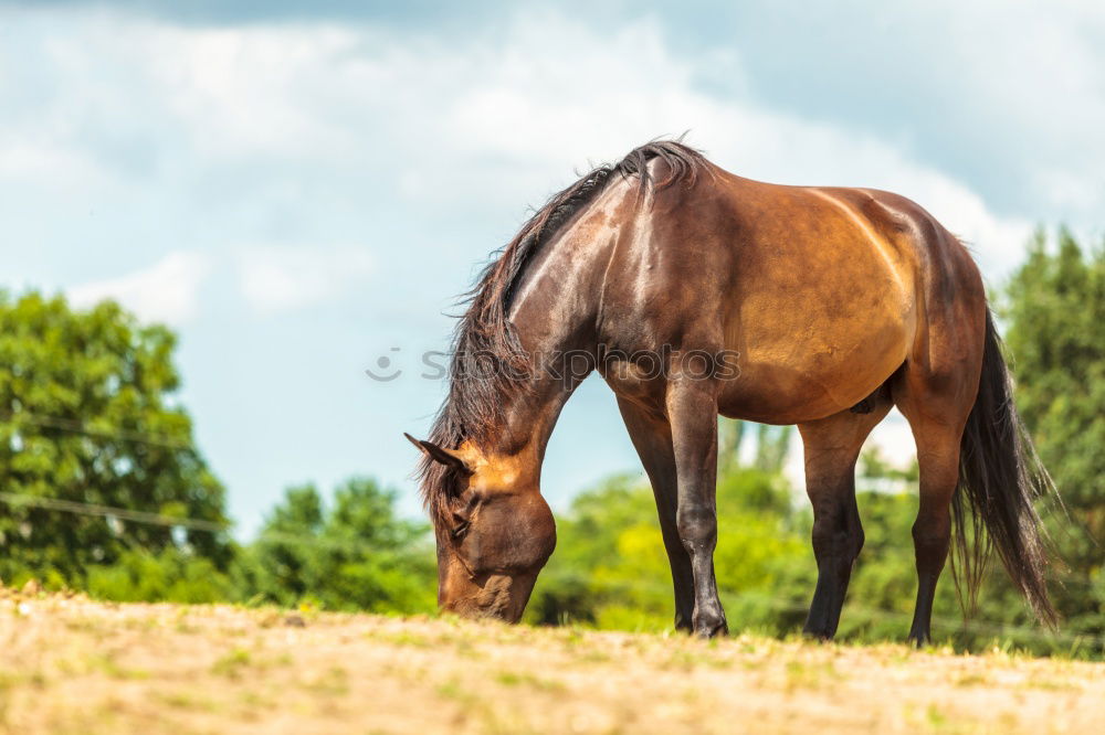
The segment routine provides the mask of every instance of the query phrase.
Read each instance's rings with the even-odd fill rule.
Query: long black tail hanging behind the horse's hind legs
[[[953,502],[959,567],[953,569],[960,590],[966,582],[968,611],[974,609],[990,550],[997,547],[1006,571],[1036,617],[1055,625],[1057,615],[1044,579],[1045,544],[1034,504],[1052,492],[1051,477],[1013,406],[1001,340],[987,309],[982,376],[964,429],[959,487]]]

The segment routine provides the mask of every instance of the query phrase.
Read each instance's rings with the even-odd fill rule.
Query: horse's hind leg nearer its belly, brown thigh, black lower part
[[[855,460],[864,439],[886,416],[885,390],[867,400],[869,413],[842,412],[799,424],[806,447],[806,492],[813,504],[813,554],[818,586],[806,619],[806,633],[832,638],[852,575],[863,547],[863,528],[855,505]]]

